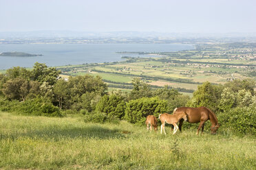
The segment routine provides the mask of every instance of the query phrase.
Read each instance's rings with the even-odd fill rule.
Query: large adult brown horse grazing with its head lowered
[[[187,114],[187,121],[189,123],[199,123],[198,131],[196,134],[199,134],[199,131],[202,127],[202,132],[204,132],[204,122],[208,121],[210,119],[211,121],[211,134],[215,134],[217,129],[220,127],[220,125],[217,123],[217,117],[215,114],[209,109],[204,106],[201,106],[199,108],[189,108],[189,107],[182,107],[182,108],[175,108],[173,110],[173,114],[180,114],[185,113]],[[183,120],[180,120],[179,129],[180,132],[182,130],[182,123]]]

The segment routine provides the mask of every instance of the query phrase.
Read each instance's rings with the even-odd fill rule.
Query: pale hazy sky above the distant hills
[[[256,32],[255,0],[0,0],[0,32]]]

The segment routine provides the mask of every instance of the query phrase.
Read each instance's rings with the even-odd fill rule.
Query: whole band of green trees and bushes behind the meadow
[[[224,85],[204,82],[190,98],[168,86],[152,88],[138,77],[132,86],[122,84],[131,86],[131,92],[107,93],[107,84],[99,76],[70,76],[65,81],[59,74],[40,63],[31,70],[8,69],[0,74],[0,110],[51,117],[83,114],[90,122],[127,120],[142,124],[149,114],[158,117],[182,106],[205,106],[215,112],[223,132],[256,134],[254,80],[234,80]]]

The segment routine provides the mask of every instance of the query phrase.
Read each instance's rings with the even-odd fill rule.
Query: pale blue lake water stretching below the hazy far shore
[[[25,52],[43,54],[36,57],[0,56],[0,69],[12,66],[32,67],[35,62],[47,66],[64,66],[67,64],[84,64],[96,62],[115,62],[123,60],[122,56],[149,57],[118,51],[171,52],[194,49],[193,45],[182,44],[39,44],[39,45],[0,45],[1,52]],[[152,56],[150,56],[152,57]]]

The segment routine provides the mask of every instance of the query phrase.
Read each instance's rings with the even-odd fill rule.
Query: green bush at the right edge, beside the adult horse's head
[[[232,130],[239,134],[256,135],[256,108],[233,108],[218,114],[218,121],[223,130]]]

